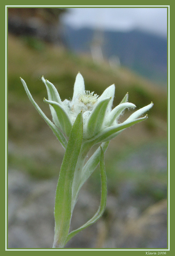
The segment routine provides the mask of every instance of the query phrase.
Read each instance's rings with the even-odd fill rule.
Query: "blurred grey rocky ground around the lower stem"
[[[8,248],[52,248],[54,195],[57,180],[36,180],[27,173],[9,170]],[[130,187],[130,189],[128,189]],[[132,186],[118,197],[108,194],[103,217],[78,233],[67,248],[166,248],[167,201],[151,202],[148,196],[132,199]],[[80,193],[72,229],[84,224],[99,205],[99,198]],[[140,209],[145,206],[145,211]],[[141,207],[142,206],[142,207]]]

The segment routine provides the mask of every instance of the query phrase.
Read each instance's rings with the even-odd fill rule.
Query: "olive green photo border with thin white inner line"
[[[93,6],[93,7],[100,7],[101,5],[106,5],[106,7],[107,7],[107,3],[105,3],[105,1],[103,0],[103,1],[91,1],[91,0],[89,0],[88,2],[87,1],[85,1],[86,2],[86,4],[84,4],[84,5],[82,5],[82,1],[80,2],[80,1],[70,1],[70,0],[67,0],[67,1],[55,1],[55,0],[51,0],[51,3],[50,3],[50,5],[52,5],[52,6],[60,6],[60,5],[62,5],[62,7],[63,6],[67,6],[67,5],[76,5],[76,7],[78,7],[78,6],[81,6],[81,7],[86,7],[87,5],[90,7],[90,6]],[[94,4],[94,2],[95,2],[95,4]],[[172,2],[172,3],[170,3],[170,2]],[[37,4],[36,4],[37,3]],[[84,3],[84,2],[83,2]],[[92,4],[92,5],[91,5]],[[6,120],[6,118],[7,118],[7,106],[6,106],[6,86],[5,86],[5,84],[6,84],[6,57],[5,57],[5,47],[6,47],[6,27],[5,27],[5,19],[6,19],[6,16],[5,16],[5,12],[6,12],[6,6],[43,6],[43,5],[48,5],[48,3],[44,0],[44,1],[33,1],[33,0],[31,0],[30,1],[30,3],[28,2],[28,4],[26,3],[26,2],[24,2],[24,1],[21,1],[21,0],[18,0],[18,1],[2,1],[1,3],[0,3],[0,5],[1,5],[1,8],[0,8],[0,10],[1,10],[1,19],[2,19],[2,22],[1,22],[1,26],[2,26],[2,29],[1,29],[1,31],[2,31],[2,34],[4,35],[4,37],[5,38],[3,38],[3,40],[1,41],[1,44],[2,44],[2,47],[1,47],[1,52],[2,52],[2,54],[1,54],[1,56],[3,56],[2,57],[2,62],[3,62],[3,64],[1,65],[1,70],[2,70],[2,74],[3,74],[3,78],[2,78],[2,85],[1,85],[1,91],[2,91],[2,97],[1,97],[1,100],[0,100],[0,104],[2,105],[2,107],[1,107],[1,110],[2,110],[2,113],[1,113],[1,116],[3,117],[3,120],[5,120],[5,124],[6,125],[2,125],[1,126],[1,129],[2,129],[2,133],[1,133],[1,141],[2,141],[2,143],[1,143],[1,145],[2,145],[2,147],[1,147],[1,149],[2,149],[2,151],[1,151],[1,157],[2,157],[2,171],[1,171],[1,175],[2,175],[2,178],[1,178],[1,181],[2,181],[2,185],[1,185],[1,195],[2,195],[2,199],[1,199],[1,202],[2,202],[2,205],[3,206],[5,206],[6,205],[6,196],[7,196],[7,194],[6,194],[6,196],[5,196],[5,191],[6,191],[6,175],[5,175],[5,170],[6,170],[6,162],[7,162],[7,160],[6,160],[6,156],[7,156],[7,152],[6,152],[6,136],[7,136],[7,120]],[[170,13],[170,15],[169,15],[169,21],[170,21],[170,24],[172,24],[172,26],[171,26],[171,29],[172,29],[172,34],[171,34],[171,37],[170,37],[170,26],[168,27],[168,35],[167,35],[167,38],[168,38],[168,45],[170,45],[170,41],[169,41],[169,38],[171,38],[171,42],[173,41],[173,30],[174,30],[174,25],[173,24],[175,24],[174,23],[174,6],[175,6],[175,3],[173,3],[173,1],[147,1],[147,2],[144,2],[144,4],[143,4],[143,2],[141,3],[140,1],[132,1],[132,5],[131,5],[131,1],[110,1],[110,3],[108,2],[108,7],[115,7],[115,5],[120,5],[120,6],[128,6],[129,5],[129,7],[137,7],[138,5],[139,6],[147,6],[147,7],[159,7],[160,5],[161,6],[164,6],[164,7],[167,7],[168,9],[168,11],[169,11],[169,13]],[[67,6],[67,7],[69,7],[69,6]],[[71,6],[70,6],[71,7]],[[174,53],[174,47],[173,47],[173,44],[171,44],[172,45],[172,47],[171,47],[171,56],[172,56],[172,58],[168,58],[168,70],[169,70],[169,72],[170,72],[170,70],[172,70],[172,68],[173,68],[173,53]],[[168,46],[168,53],[169,53],[169,51],[170,51],[170,46]],[[168,55],[170,55],[170,53],[168,54]],[[4,64],[4,62],[5,62],[5,64]],[[171,66],[172,66],[172,68],[170,69],[170,64],[171,64]],[[169,73],[168,73],[169,74]],[[173,76],[173,73],[171,74],[172,76]],[[171,76],[171,79],[169,80],[169,78],[168,78],[168,84],[170,84],[170,81],[173,81],[173,77]],[[170,75],[169,75],[169,77],[170,77]],[[168,99],[168,105],[167,105],[167,107],[168,107],[168,109],[169,109],[169,111],[168,111],[168,123],[170,123],[170,114],[172,115],[172,111],[170,112],[170,107],[171,107],[171,109],[172,109],[172,96],[173,96],[173,90],[174,90],[174,86],[172,85],[171,87],[169,86],[169,87],[167,87],[167,92],[168,92],[168,95],[170,95],[170,92],[171,92],[171,96],[169,97],[169,99]],[[173,125],[173,117],[172,117],[172,119],[171,119],[171,127],[172,127],[172,125]],[[170,156],[172,156],[172,154],[173,154],[173,148],[172,148],[172,145],[173,145],[173,135],[171,134],[171,143],[170,143],[170,138],[169,138],[169,136],[170,136],[170,126],[168,126],[168,136],[167,136],[167,138],[168,138],[168,145],[169,145],[169,147],[168,147],[168,153],[169,153],[169,160],[168,160],[168,166],[169,166],[169,164],[170,164]],[[6,135],[5,135],[6,134]],[[68,249],[63,249],[63,250],[59,250],[59,253],[78,253],[78,254],[80,254],[80,253],[85,253],[85,254],[87,254],[87,253],[95,253],[95,254],[103,254],[104,255],[104,253],[112,253],[113,255],[114,255],[114,253],[115,253],[115,255],[117,254],[117,255],[146,255],[146,252],[149,252],[149,254],[151,255],[152,253],[156,253],[156,255],[161,255],[162,253],[158,253],[158,252],[161,252],[161,251],[164,251],[164,252],[166,252],[166,254],[167,255],[173,255],[174,254],[174,243],[173,243],[173,238],[174,238],[174,235],[173,235],[173,231],[174,231],[174,220],[173,220],[173,217],[172,217],[172,212],[173,212],[173,194],[174,194],[174,185],[172,184],[173,183],[173,180],[174,180],[174,171],[173,171],[173,162],[172,162],[172,159],[171,159],[171,168],[172,168],[172,172],[170,173],[170,175],[169,175],[169,177],[168,177],[168,181],[169,181],[169,187],[168,187],[168,192],[169,192],[169,190],[170,190],[170,193],[168,193],[168,195],[170,194],[170,195],[172,195],[171,197],[170,196],[168,196],[168,206],[169,206],[169,209],[170,209],[170,211],[171,211],[171,215],[170,215],[170,211],[169,211],[169,215],[168,216],[171,216],[171,219],[168,219],[168,221],[170,220],[170,223],[171,223],[171,225],[170,225],[170,233],[168,233],[168,237],[169,237],[169,246],[168,246],[168,250],[166,250],[166,249],[158,249],[158,250],[152,250],[152,249],[148,249],[148,250],[141,250],[141,249],[131,249],[131,250],[117,250],[117,249],[115,249],[115,250],[113,250],[113,249],[108,249],[108,250],[103,250],[103,249],[101,249],[100,251],[98,251],[97,249],[95,249],[95,250],[92,250],[92,249],[87,249],[87,251],[84,251],[84,250],[82,250],[82,249],[78,249],[78,250],[75,250],[75,249],[70,249],[70,250],[68,250]],[[170,166],[169,166],[169,169],[170,169]],[[171,179],[170,179],[170,177],[171,177]],[[170,202],[172,201],[172,204],[170,204]],[[170,207],[171,206],[171,207]],[[6,217],[6,212],[5,212],[5,210],[3,209],[2,211],[1,211],[1,220],[2,220],[2,224],[1,224],[1,226],[4,228],[4,226],[5,226],[5,217]],[[40,254],[41,253],[43,253],[44,251],[46,251],[46,253],[50,253],[50,251],[48,251],[47,249],[43,249],[42,251],[40,250],[40,249],[34,249],[34,250],[32,250],[32,249],[19,249],[19,248],[17,248],[17,249],[13,249],[13,250],[11,250],[11,249],[8,249],[8,250],[6,250],[6,245],[5,245],[5,238],[6,238],[6,230],[4,230],[2,228],[2,234],[1,234],[1,245],[2,245],[2,251],[4,252],[4,253],[9,253],[9,251],[11,251],[11,252],[13,252],[13,253],[18,253],[18,251],[22,251],[22,253],[26,253],[26,251],[32,251],[33,253],[35,253],[35,252],[40,252]],[[56,249],[57,250],[57,249]],[[54,249],[51,249],[51,251],[55,251]],[[28,253],[28,252],[27,252]],[[45,252],[44,252],[45,253]],[[148,255],[149,255],[148,254]],[[162,254],[163,255],[163,254]]]

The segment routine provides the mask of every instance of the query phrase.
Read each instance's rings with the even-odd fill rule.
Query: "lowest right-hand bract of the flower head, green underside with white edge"
[[[99,136],[94,136],[94,138],[92,138],[92,141],[94,141],[95,144],[104,142],[104,141],[109,141],[115,138],[119,131],[124,130],[132,125],[135,125],[136,123],[140,123],[144,121],[147,117],[148,116],[146,115],[145,117],[138,118],[130,122],[126,120],[123,123],[106,128],[102,131],[102,133],[99,134]]]

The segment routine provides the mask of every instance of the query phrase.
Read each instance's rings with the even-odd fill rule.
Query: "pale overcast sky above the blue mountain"
[[[68,8],[64,23],[116,31],[142,29],[167,36],[167,8]]]

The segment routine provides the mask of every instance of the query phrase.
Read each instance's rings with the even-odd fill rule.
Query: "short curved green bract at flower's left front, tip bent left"
[[[44,102],[50,104],[54,108],[54,111],[56,112],[56,118],[58,120],[57,122],[59,122],[61,130],[64,131],[67,136],[69,136],[72,123],[64,108],[59,103],[51,100],[44,99]]]

